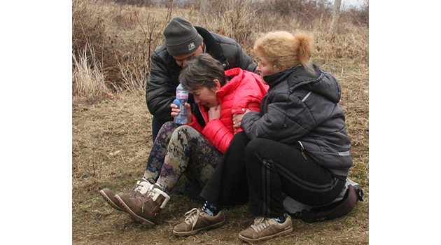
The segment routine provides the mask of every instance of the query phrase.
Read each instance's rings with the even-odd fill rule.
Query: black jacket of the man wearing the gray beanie
[[[247,71],[255,71],[257,64],[246,55],[236,41],[195,27],[204,38],[205,52],[223,64],[224,70],[239,67]],[[170,104],[176,97],[176,87],[179,85],[179,72],[182,67],[176,64],[167,52],[165,43],[153,52],[151,71],[146,83],[146,102],[148,111],[162,120],[172,120]],[[189,102],[193,102],[190,96]],[[194,106],[192,106],[194,108]]]

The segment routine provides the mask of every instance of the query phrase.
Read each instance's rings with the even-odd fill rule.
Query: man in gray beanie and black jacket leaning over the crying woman
[[[240,67],[254,72],[257,67],[239,43],[202,27],[193,27],[184,18],[176,17],[170,21],[164,29],[164,36],[165,42],[151,57],[151,71],[146,84],[147,107],[153,115],[153,141],[161,126],[173,120],[170,104],[176,97],[179,73],[188,60],[207,52],[220,61],[225,70]],[[192,113],[200,125],[205,125],[191,94],[188,103],[192,105]]]

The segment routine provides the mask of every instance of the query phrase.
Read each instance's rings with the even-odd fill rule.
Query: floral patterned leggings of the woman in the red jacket
[[[159,184],[166,193],[182,174],[203,187],[221,158],[222,153],[193,127],[167,122],[153,143],[144,179]]]

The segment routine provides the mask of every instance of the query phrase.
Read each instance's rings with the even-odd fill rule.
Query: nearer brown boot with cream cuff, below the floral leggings
[[[135,194],[133,197],[125,193],[115,195],[125,211],[135,220],[147,227],[153,227],[158,221],[158,214],[170,200],[160,186],[152,185],[145,194]]]

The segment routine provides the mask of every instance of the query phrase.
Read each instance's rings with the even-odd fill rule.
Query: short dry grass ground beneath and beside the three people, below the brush
[[[346,112],[353,149],[350,178],[360,183],[365,202],[343,218],[321,223],[293,220],[294,230],[260,244],[368,244],[368,66],[351,61],[323,64],[342,83],[341,105]],[[95,104],[72,108],[72,237],[73,244],[241,244],[238,233],[253,221],[247,207],[226,209],[223,227],[193,237],[178,238],[172,228],[183,214],[201,204],[172,193],[160,224],[145,228],[125,213],[112,209],[99,190],[128,190],[144,174],[151,148],[151,116],[144,94],[116,94]]]

